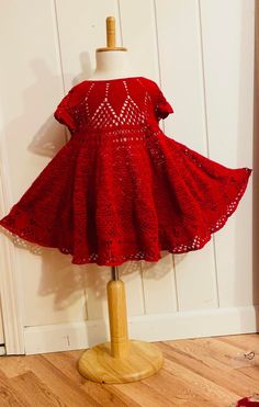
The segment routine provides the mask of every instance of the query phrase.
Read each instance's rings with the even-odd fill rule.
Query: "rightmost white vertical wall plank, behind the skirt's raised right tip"
[[[252,168],[254,13],[252,0],[201,1],[210,156],[230,168]],[[221,306],[252,301],[251,185],[215,237]]]

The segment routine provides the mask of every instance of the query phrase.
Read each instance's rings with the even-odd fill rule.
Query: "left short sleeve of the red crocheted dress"
[[[65,124],[70,133],[74,133],[76,129],[76,121],[74,117],[72,109],[72,99],[74,99],[74,89],[70,89],[69,92],[63,98],[60,103],[57,105],[56,111],[54,112],[54,117],[61,124]]]

